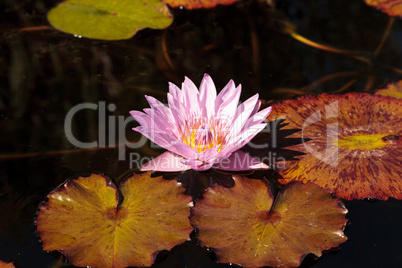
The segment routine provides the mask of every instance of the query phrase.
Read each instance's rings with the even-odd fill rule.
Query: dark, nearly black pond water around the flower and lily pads
[[[168,29],[146,29],[113,42],[26,29],[48,25],[45,14],[55,4],[0,3],[0,259],[15,260],[19,267],[62,267],[59,254],[42,251],[33,223],[38,204],[53,188],[92,172],[116,180],[136,168],[130,153],[162,152],[148,144],[138,149],[116,144],[140,138],[131,131],[135,122],[128,112],[148,106],[144,94],[166,101],[168,81],[179,85],[188,76],[199,84],[209,73],[218,88],[230,79],[241,83],[242,100],[259,93],[268,102],[294,97],[291,89],[373,92],[401,79],[392,68],[402,67],[402,21],[396,19],[374,57],[390,19],[362,0],[278,0],[275,11],[258,1],[174,9]],[[284,21],[311,40],[367,52],[372,64],[302,44],[284,33]],[[319,80],[331,74],[340,75]],[[79,141],[98,141],[91,150],[78,150],[65,132],[68,112],[83,103],[98,106],[78,112],[72,129]],[[100,116],[106,125],[98,123]],[[319,259],[308,256],[302,266],[402,267],[402,202],[345,205],[349,240]],[[215,259],[191,241],[162,252],[154,267],[229,267]]]

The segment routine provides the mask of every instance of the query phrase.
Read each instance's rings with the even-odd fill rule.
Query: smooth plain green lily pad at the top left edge
[[[172,23],[161,0],[67,0],[47,18],[60,31],[104,40],[129,39],[143,28],[164,29]]]

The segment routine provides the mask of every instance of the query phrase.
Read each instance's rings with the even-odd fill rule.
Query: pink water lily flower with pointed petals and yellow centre
[[[241,85],[233,80],[217,95],[214,82],[204,75],[198,91],[185,78],[182,89],[169,83],[169,107],[145,96],[151,108],[145,113],[131,111],[140,124],[133,128],[168,151],[141,167],[141,170],[182,171],[265,169],[268,166],[239,149],[266,123],[271,107],[258,112],[258,94],[239,104]]]

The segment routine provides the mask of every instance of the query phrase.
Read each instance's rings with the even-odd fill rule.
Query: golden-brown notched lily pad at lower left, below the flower
[[[112,182],[93,174],[50,193],[36,221],[43,249],[76,266],[150,266],[156,252],[189,238],[191,198],[179,183],[134,174],[120,192],[121,204]]]

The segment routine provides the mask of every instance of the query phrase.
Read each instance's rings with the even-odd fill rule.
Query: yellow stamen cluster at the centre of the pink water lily
[[[219,153],[229,140],[228,130],[222,120],[194,118],[184,121],[179,127],[179,134],[185,144],[199,153],[211,148],[217,148]]]

